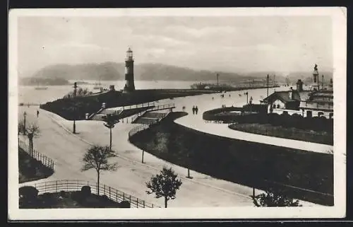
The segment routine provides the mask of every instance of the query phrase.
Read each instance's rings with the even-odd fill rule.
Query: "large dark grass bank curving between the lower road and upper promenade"
[[[269,182],[279,182],[333,194],[332,155],[197,132],[174,123],[180,115],[172,113],[159,124],[132,136],[131,143],[171,163],[241,185],[266,189],[278,187]],[[286,187],[285,191],[298,199],[333,204],[332,197],[293,187]]]

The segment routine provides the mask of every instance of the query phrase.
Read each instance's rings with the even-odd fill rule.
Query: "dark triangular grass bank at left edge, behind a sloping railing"
[[[54,171],[18,148],[18,182],[40,180],[51,176]]]

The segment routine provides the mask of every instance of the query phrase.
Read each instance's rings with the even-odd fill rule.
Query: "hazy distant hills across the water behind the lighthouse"
[[[275,71],[261,71],[248,74],[237,74],[225,71],[196,70],[166,64],[135,64],[134,76],[139,81],[215,81],[216,74],[220,74],[220,82],[247,83],[246,81],[265,81],[270,74],[270,80],[276,75],[278,83],[285,83],[285,76]],[[328,73],[323,73],[332,76]],[[116,62],[104,62],[101,64],[56,64],[46,66],[37,71],[32,77],[37,78],[63,78],[65,80],[90,80],[90,81],[114,81],[124,80],[125,64]],[[311,72],[294,72],[289,74],[290,81],[298,78],[311,78]],[[328,78],[329,80],[329,78]]]

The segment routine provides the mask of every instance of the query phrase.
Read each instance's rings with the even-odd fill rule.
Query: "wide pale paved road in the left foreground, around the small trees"
[[[25,108],[28,110],[28,122],[31,118],[35,121],[36,118],[31,115],[32,112],[35,113],[34,108]],[[20,112],[23,111],[20,110]],[[89,146],[85,140],[90,141],[90,144],[107,145],[109,131],[102,122],[77,122],[79,134],[73,135],[69,132],[72,122],[40,110],[37,123],[40,125],[41,135],[35,138],[35,149],[55,162],[55,173],[47,180],[96,181],[95,171],[80,172],[81,158]],[[155,199],[145,193],[145,182],[158,173],[163,165],[167,165],[172,166],[183,178],[183,185],[177,192],[177,199],[169,202],[169,206],[252,206],[251,199],[248,197],[252,192],[249,187],[217,180],[193,171],[191,171],[193,179],[189,180],[184,177],[187,173],[185,168],[162,161],[149,153],[145,153],[146,164],[140,163],[141,151],[127,141],[127,132],[134,126],[119,123],[114,128],[113,149],[118,152],[118,157],[113,158],[112,161],[116,161],[119,168],[116,172],[103,173],[101,177],[103,184],[162,206],[162,199]]]

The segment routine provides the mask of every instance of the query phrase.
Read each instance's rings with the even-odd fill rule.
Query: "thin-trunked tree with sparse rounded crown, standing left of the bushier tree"
[[[114,171],[117,163],[108,163],[108,158],[114,156],[109,146],[93,145],[83,156],[83,167],[81,171],[95,169],[97,171],[97,194],[100,194],[100,171]]]

